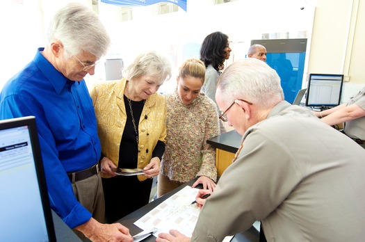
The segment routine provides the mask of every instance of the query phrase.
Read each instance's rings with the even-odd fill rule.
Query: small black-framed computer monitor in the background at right
[[[309,74],[305,106],[331,107],[340,104],[343,74]]]

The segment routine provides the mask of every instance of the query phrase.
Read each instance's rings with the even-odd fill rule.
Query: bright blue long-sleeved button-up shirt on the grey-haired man
[[[68,80],[42,50],[3,86],[0,119],[35,116],[51,208],[74,228],[91,213],[76,200],[67,172],[99,160],[95,111],[85,81]]]

